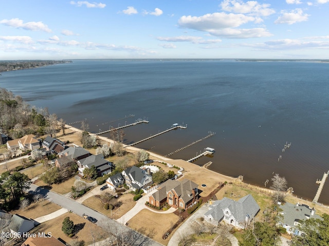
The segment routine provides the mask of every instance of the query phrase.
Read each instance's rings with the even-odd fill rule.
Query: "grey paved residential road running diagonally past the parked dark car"
[[[82,216],[82,214],[87,214],[91,217],[96,218],[98,221],[96,222],[96,224],[100,227],[104,227],[106,226],[106,228],[104,228],[105,230],[108,231],[109,228],[111,228],[113,230],[113,233],[115,234],[117,231],[120,232],[128,232],[128,233],[134,233],[134,231],[120,223],[118,223],[117,221],[108,218],[107,216],[93,210],[90,209],[89,207],[80,204],[78,202],[76,202],[75,200],[69,199],[65,196],[62,196],[60,194],[51,192],[49,190],[46,190],[45,188],[42,188],[40,186],[31,184],[30,189],[28,190],[29,193],[40,193],[41,195],[43,195],[47,200],[56,203],[58,205],[60,205],[61,207],[64,207],[65,209],[72,211],[73,213]],[[162,244],[151,240],[148,245],[152,245],[152,246],[160,246]]]

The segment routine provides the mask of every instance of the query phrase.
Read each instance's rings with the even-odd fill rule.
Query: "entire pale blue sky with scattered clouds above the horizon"
[[[329,59],[329,0],[0,3],[0,60]]]

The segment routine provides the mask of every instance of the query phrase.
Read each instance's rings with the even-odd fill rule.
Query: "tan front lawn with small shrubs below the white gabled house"
[[[122,202],[122,205],[120,207],[115,207],[112,210],[112,217],[111,217],[111,210],[105,210],[104,209],[104,204],[102,201],[96,197],[89,197],[86,199],[82,204],[91,207],[92,209],[99,211],[106,216],[113,218],[113,219],[118,219],[122,215],[124,215],[126,212],[130,211],[136,204],[136,202],[133,200],[134,195],[133,194],[124,194],[119,196],[119,198],[113,198],[110,203],[117,203],[117,202]],[[120,211],[119,211],[120,210]]]

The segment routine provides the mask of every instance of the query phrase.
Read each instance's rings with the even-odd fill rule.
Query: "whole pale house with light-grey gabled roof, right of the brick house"
[[[259,210],[259,205],[250,194],[238,201],[224,197],[222,200],[210,202],[205,220],[215,225],[223,220],[237,228],[245,229]]]

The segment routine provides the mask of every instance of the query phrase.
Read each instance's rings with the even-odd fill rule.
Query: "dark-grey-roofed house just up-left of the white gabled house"
[[[113,165],[112,162],[105,160],[102,154],[99,154],[97,156],[87,156],[86,158],[78,160],[77,164],[80,175],[83,175],[83,171],[85,168],[91,168],[92,166],[95,166],[97,169],[98,176],[103,176],[104,174],[111,173]]]

